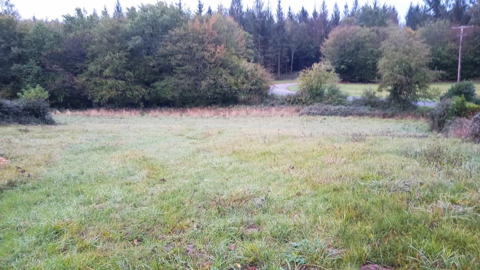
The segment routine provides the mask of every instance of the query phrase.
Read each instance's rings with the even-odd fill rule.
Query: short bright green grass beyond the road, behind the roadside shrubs
[[[294,80],[290,81],[279,81],[279,83],[293,83],[296,82]],[[453,83],[433,83],[432,87],[440,89],[440,93],[445,93],[450,86],[452,86]],[[361,97],[363,91],[365,89],[374,89],[376,90],[378,88],[378,84],[354,84],[354,83],[348,83],[348,84],[338,84],[340,87],[340,90],[344,91],[345,93],[348,93],[348,96],[351,97]],[[295,91],[297,92],[299,90],[299,86],[289,86],[288,90],[290,91]],[[480,83],[477,83],[477,94],[480,96]],[[379,93],[379,96],[381,97],[386,97],[388,96],[387,91],[383,91]]]

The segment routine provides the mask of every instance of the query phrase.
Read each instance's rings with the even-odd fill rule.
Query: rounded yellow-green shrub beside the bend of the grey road
[[[325,88],[338,81],[338,75],[329,61],[322,61],[302,70],[299,81],[301,92],[316,101],[320,101],[324,98]]]

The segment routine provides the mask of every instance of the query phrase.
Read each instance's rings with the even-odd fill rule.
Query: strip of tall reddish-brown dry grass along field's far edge
[[[138,109],[88,109],[88,110],[54,110],[55,115],[77,116],[197,116],[197,117],[231,117],[231,116],[291,116],[298,115],[299,108],[286,107],[196,107],[196,108],[161,108],[151,110]]]

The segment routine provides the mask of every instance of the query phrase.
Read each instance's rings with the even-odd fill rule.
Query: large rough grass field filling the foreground
[[[479,145],[221,115],[0,126],[0,269],[479,269]]]

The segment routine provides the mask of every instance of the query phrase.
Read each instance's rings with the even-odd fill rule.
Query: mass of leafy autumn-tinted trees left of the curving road
[[[269,90],[269,74],[251,61],[251,36],[222,12],[117,2],[111,13],[77,8],[62,22],[6,13],[3,98],[46,89],[54,107],[207,106],[259,103]]]

